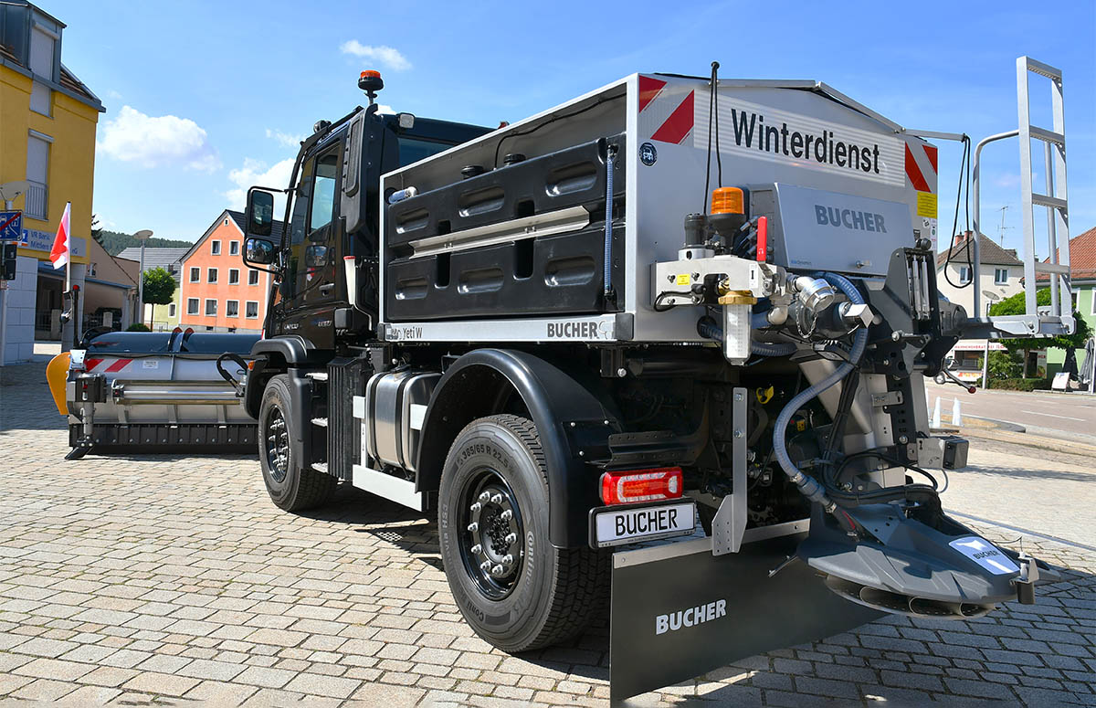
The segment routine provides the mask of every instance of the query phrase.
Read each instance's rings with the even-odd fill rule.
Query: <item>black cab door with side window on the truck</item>
[[[340,292],[336,261],[343,235],[338,214],[341,141],[304,164],[289,220],[289,261],[283,281],[284,331],[318,349],[334,349],[334,310]]]

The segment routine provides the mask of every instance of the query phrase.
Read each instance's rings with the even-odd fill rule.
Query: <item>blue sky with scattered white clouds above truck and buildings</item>
[[[1096,226],[1093,0],[38,4],[68,25],[62,61],[106,106],[94,212],[111,230],[193,241],[248,186],[285,186],[313,123],[365,103],[362,69],[383,72],[379,102],[396,111],[495,126],[637,71],[705,76],[716,59],[724,78],[824,81],[907,128],[977,142],[1017,127],[1024,54],[1063,71],[1072,232]],[[1048,128],[1049,93],[1034,84],[1032,122]],[[961,150],[935,142],[946,235]],[[1019,180],[1015,139],[984,150],[981,230],[1006,248],[1023,248]]]

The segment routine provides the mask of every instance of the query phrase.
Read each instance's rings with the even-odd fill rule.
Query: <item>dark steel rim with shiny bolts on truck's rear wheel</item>
[[[457,546],[465,570],[481,594],[503,599],[517,585],[525,560],[517,498],[498,471],[482,467],[468,478],[460,500]]]

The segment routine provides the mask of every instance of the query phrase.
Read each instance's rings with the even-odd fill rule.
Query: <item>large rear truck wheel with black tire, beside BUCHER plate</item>
[[[609,557],[548,540],[547,466],[525,418],[491,415],[460,431],[442,471],[437,527],[460,613],[503,651],[569,639],[604,607]]]

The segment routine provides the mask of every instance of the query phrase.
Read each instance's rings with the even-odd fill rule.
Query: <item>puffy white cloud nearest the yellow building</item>
[[[128,105],[103,124],[98,152],[144,168],[183,167],[212,172],[220,168],[206,132],[190,118],[148,116]]]

